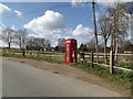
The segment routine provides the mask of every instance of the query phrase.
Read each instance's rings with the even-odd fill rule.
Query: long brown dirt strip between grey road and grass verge
[[[110,90],[117,91],[123,97],[130,97],[130,94],[127,91],[122,90],[121,87],[119,85],[116,85],[115,82],[108,82],[104,79],[102,79],[95,75],[88,74],[81,69],[78,69],[78,68],[69,66],[69,65],[53,64],[53,63],[34,61],[34,59],[25,59],[25,58],[12,58],[12,57],[2,57],[2,58],[28,64],[28,65],[37,67],[37,68],[49,70],[53,74],[60,74],[60,75],[69,76],[69,77],[76,78],[76,79],[80,79],[83,81],[88,81],[91,84],[95,84],[95,85],[105,87]]]

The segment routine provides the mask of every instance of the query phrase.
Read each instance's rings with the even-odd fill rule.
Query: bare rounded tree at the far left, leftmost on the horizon
[[[2,31],[1,38],[8,45],[9,50],[11,47],[11,44],[14,42],[14,30],[11,28],[7,28]]]

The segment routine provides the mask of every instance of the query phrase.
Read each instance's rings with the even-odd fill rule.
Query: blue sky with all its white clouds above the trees
[[[74,1],[2,2],[0,30],[27,29],[29,35],[49,38],[52,46],[58,44],[60,37],[76,38],[79,45],[86,43],[94,36],[92,4],[80,4]],[[108,6],[108,3],[96,3],[96,20]]]

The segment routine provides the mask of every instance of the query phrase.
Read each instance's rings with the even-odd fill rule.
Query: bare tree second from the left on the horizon
[[[25,30],[19,30],[16,32],[16,44],[19,45],[20,48],[25,48],[28,38],[28,33]]]

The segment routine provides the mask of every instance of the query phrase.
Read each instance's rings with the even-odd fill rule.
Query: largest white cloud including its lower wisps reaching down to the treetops
[[[65,29],[62,14],[51,10],[45,11],[44,15],[34,18],[23,26],[35,32],[41,37],[49,38],[53,43],[52,45],[61,37],[61,33]]]

